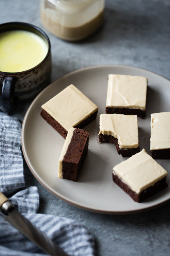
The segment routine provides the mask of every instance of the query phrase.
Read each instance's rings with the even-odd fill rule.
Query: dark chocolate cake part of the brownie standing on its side
[[[67,152],[63,158],[63,179],[77,181],[88,150],[89,133],[75,128]]]

